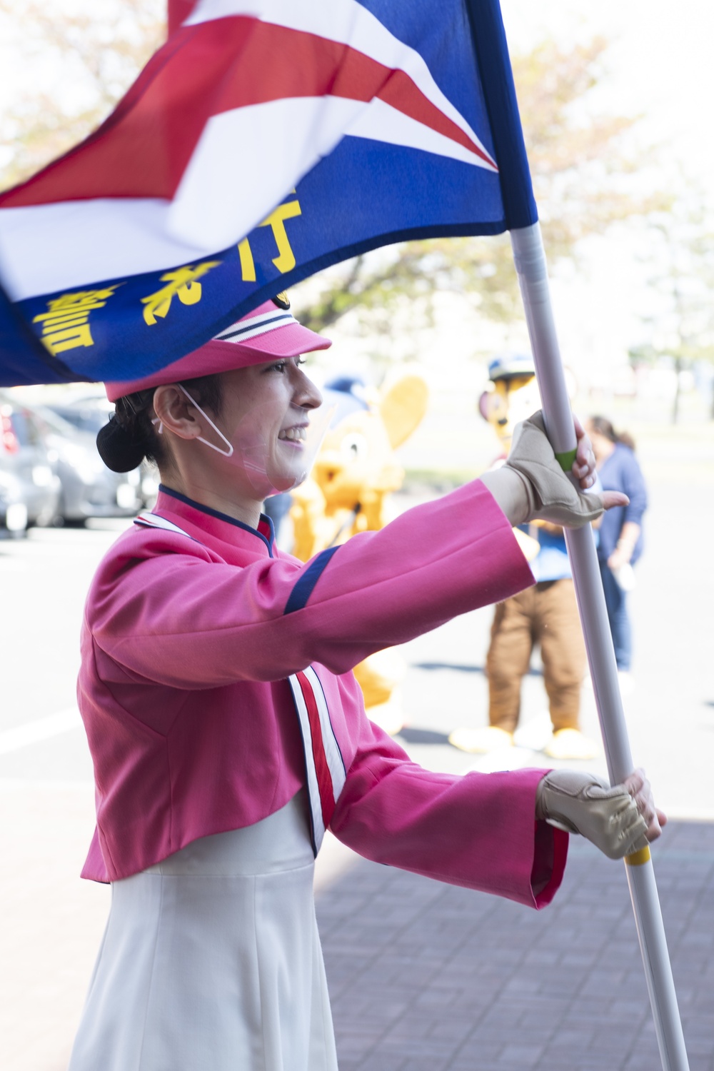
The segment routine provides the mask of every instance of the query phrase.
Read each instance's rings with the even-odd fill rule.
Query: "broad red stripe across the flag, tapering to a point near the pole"
[[[290,62],[286,62],[290,57]],[[170,200],[211,116],[284,97],[379,97],[493,165],[402,71],[313,33],[233,15],[181,27],[112,115],[0,206],[94,197]],[[246,166],[259,162],[246,161]]]

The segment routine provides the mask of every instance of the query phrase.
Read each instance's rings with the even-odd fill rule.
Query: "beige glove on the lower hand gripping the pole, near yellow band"
[[[592,773],[547,773],[536,789],[535,817],[568,833],[580,833],[609,859],[622,859],[648,843],[647,821],[626,787],[610,788]]]

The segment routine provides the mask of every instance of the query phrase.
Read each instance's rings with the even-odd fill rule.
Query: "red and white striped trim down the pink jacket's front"
[[[291,674],[288,683],[303,737],[309,796],[313,850],[317,856],[332,820],[347,774],[320,678],[312,666]]]

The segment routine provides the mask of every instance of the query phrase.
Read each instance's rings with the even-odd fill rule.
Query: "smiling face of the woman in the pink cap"
[[[322,398],[301,363],[302,358],[282,358],[223,374],[223,403],[215,424],[233,453],[230,457],[216,453],[212,459],[245,499],[262,501],[289,491],[309,467],[309,412]],[[226,450],[213,428],[208,427],[203,438],[218,451]]]

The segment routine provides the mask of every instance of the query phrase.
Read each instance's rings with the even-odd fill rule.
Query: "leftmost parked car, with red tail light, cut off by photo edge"
[[[0,393],[0,529],[21,537],[57,515],[61,484],[34,413]]]

